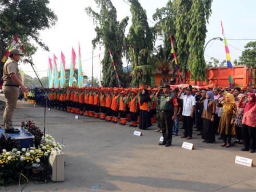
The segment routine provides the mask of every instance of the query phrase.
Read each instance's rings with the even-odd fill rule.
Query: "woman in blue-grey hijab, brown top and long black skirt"
[[[206,143],[215,142],[215,130],[214,130],[214,114],[216,110],[216,102],[214,101],[214,95],[211,91],[206,92],[206,99],[203,101],[203,130],[202,139]]]

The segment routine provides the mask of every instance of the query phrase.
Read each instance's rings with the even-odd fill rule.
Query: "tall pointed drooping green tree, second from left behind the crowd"
[[[142,76],[139,77],[138,69],[135,66],[133,52],[131,45],[133,46],[135,59],[138,66],[148,65],[147,52],[145,54],[139,54],[142,49],[153,50],[154,36],[153,28],[149,27],[147,22],[146,11],[142,8],[138,0],[128,0],[131,3],[130,12],[132,15],[131,26],[129,34],[127,35],[126,46],[129,47],[129,58],[132,62],[133,73],[131,86],[150,85],[150,76],[152,75],[150,70],[145,70],[145,67],[141,67]],[[139,83],[138,83],[139,82]]]

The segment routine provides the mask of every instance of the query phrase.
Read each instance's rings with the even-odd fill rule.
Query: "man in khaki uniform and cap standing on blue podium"
[[[3,66],[3,93],[5,94],[6,106],[3,113],[3,128],[5,133],[19,133],[13,128],[13,111],[17,105],[19,97],[19,86],[22,92],[26,92],[26,87],[22,85],[21,74],[19,73],[18,61],[23,53],[13,48],[9,51],[9,59]]]

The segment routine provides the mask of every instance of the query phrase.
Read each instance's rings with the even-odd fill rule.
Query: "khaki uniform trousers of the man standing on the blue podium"
[[[3,128],[13,128],[13,111],[17,105],[19,97],[19,88],[14,86],[3,85],[3,93],[5,94],[5,112],[3,113]]]

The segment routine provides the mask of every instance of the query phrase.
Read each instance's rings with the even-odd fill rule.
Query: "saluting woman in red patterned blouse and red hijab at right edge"
[[[241,101],[238,102],[238,107],[241,106],[245,97],[246,96],[243,96]],[[249,93],[247,95],[247,101],[242,119],[243,145],[245,147],[241,150],[250,150],[251,153],[254,153],[256,147],[256,95],[254,93]]]

